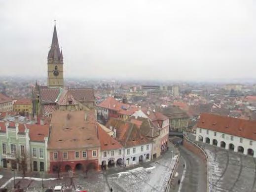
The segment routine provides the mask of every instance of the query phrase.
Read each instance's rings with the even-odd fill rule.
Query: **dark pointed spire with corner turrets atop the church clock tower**
[[[52,36],[52,44],[48,53],[48,63],[61,63],[61,52],[56,30],[56,20],[54,20],[54,30]],[[63,60],[63,59],[62,59]]]

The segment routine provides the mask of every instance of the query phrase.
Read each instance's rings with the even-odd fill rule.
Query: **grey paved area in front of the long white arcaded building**
[[[210,192],[256,192],[256,159],[197,142],[209,158]]]

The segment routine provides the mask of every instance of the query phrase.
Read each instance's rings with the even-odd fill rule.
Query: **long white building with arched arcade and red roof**
[[[256,121],[202,114],[196,141],[256,157]]]

